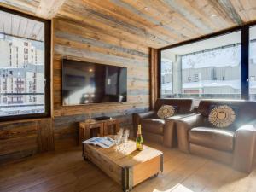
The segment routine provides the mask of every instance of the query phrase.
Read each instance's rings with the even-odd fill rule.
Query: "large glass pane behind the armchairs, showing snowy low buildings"
[[[160,61],[172,63],[170,87],[160,74],[161,97],[241,99],[241,31],[164,49]]]

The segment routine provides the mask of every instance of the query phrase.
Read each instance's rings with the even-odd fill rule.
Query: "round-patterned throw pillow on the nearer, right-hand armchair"
[[[216,106],[209,114],[209,122],[219,128],[230,126],[236,119],[236,113],[227,105]]]

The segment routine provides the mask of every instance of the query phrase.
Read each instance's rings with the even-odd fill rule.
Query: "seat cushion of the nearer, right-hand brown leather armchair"
[[[233,151],[234,134],[233,131],[223,129],[195,127],[189,131],[189,143],[223,151]]]

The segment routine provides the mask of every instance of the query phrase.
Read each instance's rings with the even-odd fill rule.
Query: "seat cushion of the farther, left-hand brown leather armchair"
[[[163,119],[142,119],[143,131],[162,135],[164,133],[165,120]]]

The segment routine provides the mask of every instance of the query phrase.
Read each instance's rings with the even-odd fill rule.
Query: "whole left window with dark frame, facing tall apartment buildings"
[[[0,120],[49,116],[50,21],[3,8],[0,8],[0,15],[10,22],[15,20],[15,24],[10,25],[4,20],[0,22],[0,29],[3,29],[3,38],[0,39],[3,87],[0,95],[5,96],[0,100]],[[27,32],[21,32],[22,27],[9,30],[9,26],[24,23],[32,26]],[[32,59],[34,51],[44,55],[38,57],[37,63]],[[33,84],[35,91],[32,93],[33,81],[38,84]],[[44,81],[46,86],[42,88]]]

